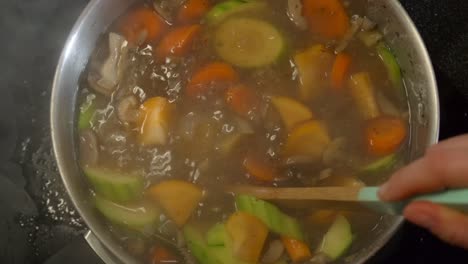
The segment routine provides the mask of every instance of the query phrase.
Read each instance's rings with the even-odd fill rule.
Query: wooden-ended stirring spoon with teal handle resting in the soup
[[[378,187],[273,188],[244,185],[229,188],[235,194],[248,194],[263,200],[355,202],[374,211],[394,215],[401,214],[406,204],[417,200],[468,212],[468,189],[446,190],[390,203],[379,199],[378,190]]]

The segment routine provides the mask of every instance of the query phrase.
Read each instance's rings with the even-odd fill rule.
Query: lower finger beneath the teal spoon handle
[[[447,243],[468,249],[468,216],[430,202],[414,202],[403,215]]]

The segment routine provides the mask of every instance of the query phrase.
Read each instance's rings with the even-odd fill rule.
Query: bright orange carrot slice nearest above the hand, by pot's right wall
[[[373,155],[395,152],[406,133],[406,125],[399,118],[384,116],[369,120],[365,129],[367,149]]]

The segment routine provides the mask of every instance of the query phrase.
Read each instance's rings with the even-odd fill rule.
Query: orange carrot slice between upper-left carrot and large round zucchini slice
[[[183,26],[169,32],[159,43],[156,49],[158,58],[169,55],[184,56],[192,48],[195,37],[200,32],[200,25]]]

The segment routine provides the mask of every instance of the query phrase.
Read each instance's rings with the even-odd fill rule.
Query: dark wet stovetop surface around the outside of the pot
[[[61,186],[49,97],[67,34],[88,0],[0,1],[0,263],[101,263]],[[441,138],[468,132],[468,1],[401,0],[434,64]],[[376,263],[466,263],[468,253],[406,224]]]

